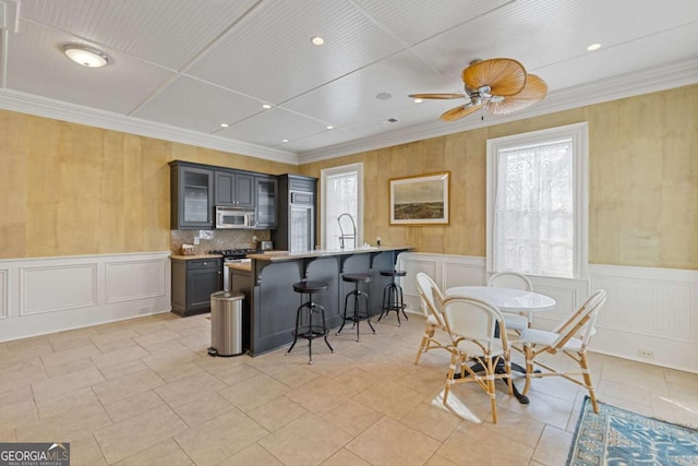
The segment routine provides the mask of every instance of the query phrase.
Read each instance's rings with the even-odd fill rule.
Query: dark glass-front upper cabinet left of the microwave
[[[169,165],[170,228],[212,229],[214,171],[179,160]]]

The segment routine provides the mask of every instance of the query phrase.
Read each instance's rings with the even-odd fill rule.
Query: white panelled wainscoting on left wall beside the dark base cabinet
[[[169,255],[0,261],[0,342],[170,311]]]

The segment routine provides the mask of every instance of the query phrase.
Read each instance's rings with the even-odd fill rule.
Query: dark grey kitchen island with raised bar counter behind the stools
[[[393,270],[398,254],[408,250],[410,247],[370,247],[249,254],[249,267],[230,267],[230,290],[245,295],[244,333],[249,332],[245,339],[250,354],[257,356],[293,340],[296,310],[301,304],[301,295],[293,291],[293,284],[303,279],[325,282],[329,286],[313,296],[313,300],[325,308],[328,328],[341,324],[345,295],[353,289],[352,284],[341,280],[344,273],[371,274],[370,312],[380,314],[383,288],[389,282],[389,277],[381,276],[380,272]],[[303,299],[306,298],[303,295]]]

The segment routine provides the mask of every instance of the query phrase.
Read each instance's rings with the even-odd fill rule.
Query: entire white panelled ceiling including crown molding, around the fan
[[[696,0],[0,0],[0,108],[285,162],[698,82]],[[457,100],[407,97],[495,57],[549,97],[457,123],[438,120]]]

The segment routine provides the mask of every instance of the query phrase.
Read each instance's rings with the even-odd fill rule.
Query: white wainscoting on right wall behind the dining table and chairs
[[[412,312],[421,312],[418,272],[442,289],[488,280],[485,259],[478,256],[406,252],[397,266],[408,272],[402,288]],[[557,301],[555,309],[534,315],[537,326],[554,326],[590,290],[603,288],[609,298],[591,350],[698,373],[698,271],[590,264],[588,280],[530,278],[535,291]],[[640,357],[639,350],[653,357]]]

